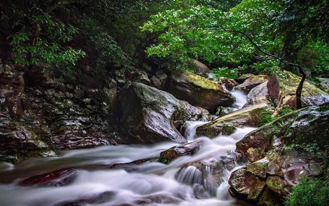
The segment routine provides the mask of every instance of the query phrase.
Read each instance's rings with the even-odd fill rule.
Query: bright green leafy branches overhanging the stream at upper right
[[[221,68],[239,70],[263,70],[282,65],[280,59],[286,59],[324,73],[329,69],[324,43],[328,24],[323,20],[327,1],[300,2],[251,0],[227,12],[198,5],[158,13],[142,27],[144,31],[162,32],[159,43],[149,47],[148,54],[200,58]],[[318,24],[313,23],[315,19]],[[291,34],[296,37],[291,38]],[[262,51],[278,58],[267,58],[271,55]]]

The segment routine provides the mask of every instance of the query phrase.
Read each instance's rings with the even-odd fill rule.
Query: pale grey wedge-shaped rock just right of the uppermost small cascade
[[[265,83],[262,83],[259,86],[254,87],[250,90],[250,92],[247,95],[247,103],[244,105],[244,107],[257,105],[261,103],[265,103],[268,106],[270,106],[270,102],[267,99],[268,96],[267,83],[268,81],[265,81]]]

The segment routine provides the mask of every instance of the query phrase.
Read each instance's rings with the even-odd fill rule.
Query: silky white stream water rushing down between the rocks
[[[245,97],[237,91],[233,95],[241,108]],[[195,135],[196,128],[205,121],[187,123],[187,140],[202,139],[203,145],[194,155],[179,157],[169,164],[150,162],[134,165],[130,170],[109,169],[115,163],[156,157],[161,151],[177,145],[174,142],[74,150],[58,157],[29,159],[15,166],[2,163],[0,205],[247,205],[228,194],[230,174],[241,167],[237,161],[230,171],[225,166],[218,166],[223,167],[219,184],[211,181],[214,168],[205,165],[201,171],[191,164],[227,156],[235,150],[235,143],[255,128],[237,128],[229,136],[209,139]],[[68,167],[77,168],[76,177],[64,186],[32,187],[17,183],[26,177]],[[72,203],[79,201],[82,203]]]

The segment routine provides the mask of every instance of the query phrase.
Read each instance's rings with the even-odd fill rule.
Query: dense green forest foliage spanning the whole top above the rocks
[[[192,69],[271,73],[296,63],[327,75],[328,1],[14,0],[0,3],[0,41],[15,63],[62,70]],[[145,50],[147,54],[145,54]],[[268,58],[265,53],[279,58]],[[78,61],[79,60],[79,61]],[[283,61],[284,60],[284,61]]]

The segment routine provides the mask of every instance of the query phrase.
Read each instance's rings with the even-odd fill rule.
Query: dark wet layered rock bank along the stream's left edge
[[[51,71],[6,65],[0,73],[0,160],[125,142],[113,123],[114,79],[82,76],[70,85]]]

